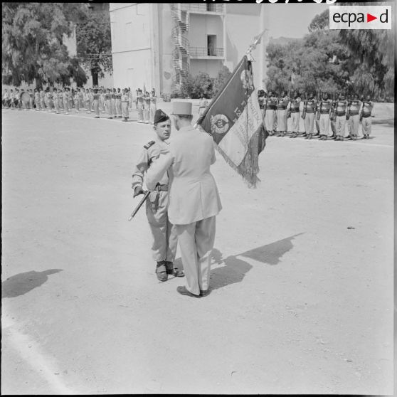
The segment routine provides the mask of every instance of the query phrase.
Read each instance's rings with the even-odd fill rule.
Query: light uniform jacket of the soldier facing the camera
[[[143,186],[144,173],[152,165],[153,160],[159,157],[160,149],[166,149],[168,145],[169,142],[163,142],[162,139],[157,137],[157,134],[155,134],[152,141],[144,145],[144,149],[139,154],[134,172],[132,173],[132,189],[135,189],[135,186],[138,185]],[[159,180],[159,184],[166,185],[168,182],[168,174],[164,173],[162,178]],[[154,187],[155,186],[153,186],[153,189],[149,189],[154,190]]]

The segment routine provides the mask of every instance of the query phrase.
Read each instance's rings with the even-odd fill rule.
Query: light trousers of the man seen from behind
[[[215,241],[216,217],[187,225],[175,225],[186,277],[186,289],[194,295],[209,287],[211,251]]]

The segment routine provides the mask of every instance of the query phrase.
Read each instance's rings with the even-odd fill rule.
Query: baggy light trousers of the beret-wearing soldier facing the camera
[[[127,102],[125,102],[127,105]],[[176,228],[169,222],[168,218],[168,191],[153,191],[154,196],[158,195],[157,210],[152,206],[151,197],[146,201],[146,215],[152,232],[153,244],[152,255],[156,262],[168,260],[173,262],[176,255],[178,237]]]

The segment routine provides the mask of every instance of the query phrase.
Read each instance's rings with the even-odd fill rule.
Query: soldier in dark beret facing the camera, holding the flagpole
[[[154,115],[154,139],[144,145],[144,150],[137,160],[132,174],[134,197],[144,194],[142,189],[144,175],[152,166],[154,159],[159,157],[160,149],[167,147],[167,139],[171,134],[171,120],[161,109]],[[174,267],[177,237],[174,226],[168,217],[169,177],[167,172],[157,181],[146,201],[146,214],[153,235],[152,254],[157,262],[156,274],[160,281],[166,281],[168,275],[183,277],[184,272]]]

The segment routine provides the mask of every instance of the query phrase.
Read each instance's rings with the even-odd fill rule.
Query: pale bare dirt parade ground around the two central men
[[[393,105],[373,113],[371,139],[269,137],[258,189],[217,154],[192,299],[157,280],[144,207],[127,221],[153,127],[3,110],[1,393],[393,394]]]

